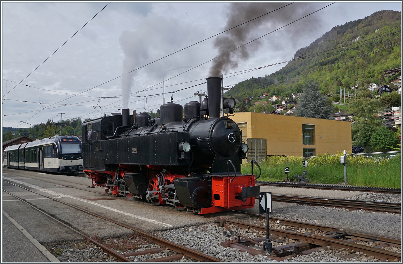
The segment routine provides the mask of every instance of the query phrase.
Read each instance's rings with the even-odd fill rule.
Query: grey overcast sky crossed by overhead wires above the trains
[[[2,126],[30,127],[20,121],[39,124],[53,119],[56,122],[60,120],[58,113],[64,113],[63,119],[100,117],[117,112],[124,103],[137,112],[156,111],[163,99],[162,95],[153,94],[162,93],[159,83],[164,73],[165,101],[170,101],[172,91],[203,83],[205,80],[200,79],[209,77],[214,72],[212,68],[218,67],[212,67],[217,60],[206,62],[222,50],[259,38],[330,2],[296,2],[130,74],[125,73],[289,3],[253,6],[251,3],[111,2],[96,15],[106,4],[2,2]],[[299,48],[308,46],[332,27],[378,10],[401,11],[401,3],[337,2],[247,44],[238,49],[240,52],[231,52],[228,63],[224,61],[220,71],[227,74],[290,60]],[[83,29],[31,73],[83,25]],[[180,68],[193,68],[202,63],[205,64],[195,69]],[[224,78],[224,86],[233,86],[252,76],[268,75],[281,67],[284,64]],[[122,74],[125,75],[117,78]],[[227,76],[231,74],[224,75]],[[198,100],[198,96],[191,97],[195,92],[206,90],[206,84],[185,89],[174,93],[173,101],[183,105]],[[125,102],[122,94],[131,97]],[[134,97],[147,95],[147,100]],[[116,98],[108,98],[112,96]]]

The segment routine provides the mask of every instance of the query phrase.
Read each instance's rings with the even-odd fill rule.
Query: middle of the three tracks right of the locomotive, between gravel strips
[[[256,197],[257,199],[258,197]],[[400,203],[378,202],[378,201],[361,201],[349,199],[334,199],[334,198],[318,198],[318,197],[303,197],[293,195],[272,195],[272,201],[297,203],[314,206],[326,206],[345,208],[350,210],[367,210],[372,212],[388,212],[394,214],[401,213]]]

